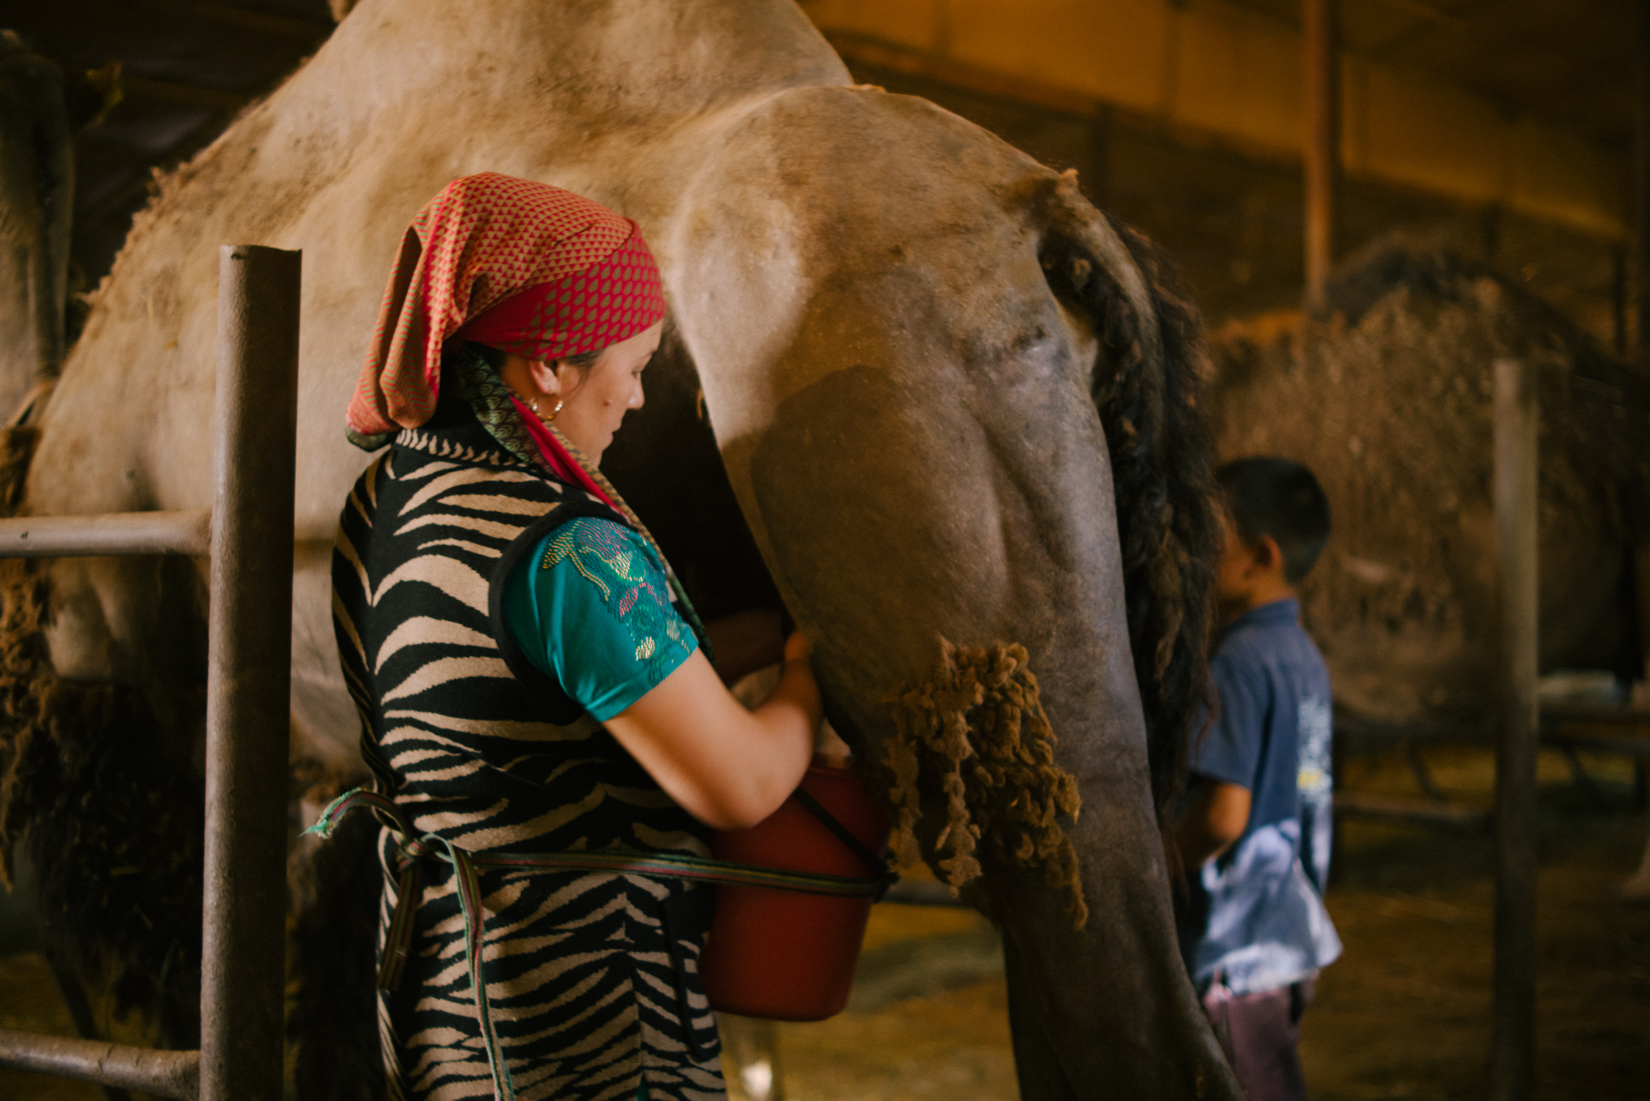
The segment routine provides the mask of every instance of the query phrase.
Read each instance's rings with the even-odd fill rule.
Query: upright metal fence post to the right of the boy
[[[1490,1098],[1530,1101],[1536,1063],[1536,432],[1534,366],[1495,363],[1500,565],[1495,743],[1495,1020]]]

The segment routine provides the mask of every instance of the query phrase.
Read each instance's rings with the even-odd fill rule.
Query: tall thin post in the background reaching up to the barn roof
[[[1338,0],[1305,0],[1307,310],[1323,307],[1340,198]]]

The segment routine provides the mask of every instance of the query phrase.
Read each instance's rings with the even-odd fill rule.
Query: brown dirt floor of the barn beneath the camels
[[[1439,788],[1488,806],[1490,757],[1426,753]],[[1632,770],[1584,758],[1577,786],[1541,760],[1538,1096],[1650,1099],[1650,907],[1615,898],[1645,819]],[[1346,788],[1419,798],[1398,753],[1351,761]],[[1343,822],[1330,913],[1346,944],[1323,972],[1302,1050],[1318,1101],[1483,1098],[1488,1052],[1492,842],[1483,832]],[[0,1027],[68,1033],[38,954],[0,956]],[[789,1101],[1008,1101],[1016,1096],[1002,963],[969,911],[879,907],[848,1012],[780,1025]],[[738,1078],[733,1093],[738,1098]],[[0,1098],[96,1101],[99,1091],[0,1071]]]

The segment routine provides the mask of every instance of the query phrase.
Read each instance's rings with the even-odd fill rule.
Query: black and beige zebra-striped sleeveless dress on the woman
[[[474,415],[404,430],[350,493],[333,613],[363,752],[412,819],[472,852],[706,855],[706,831],[515,649],[516,559],[574,516],[624,519],[500,448]],[[396,907],[383,837],[381,928]],[[412,944],[380,1028],[391,1096],[493,1091],[447,864],[422,860]],[[723,1096],[696,961],[713,893],[612,872],[480,872],[483,971],[518,1098]]]

